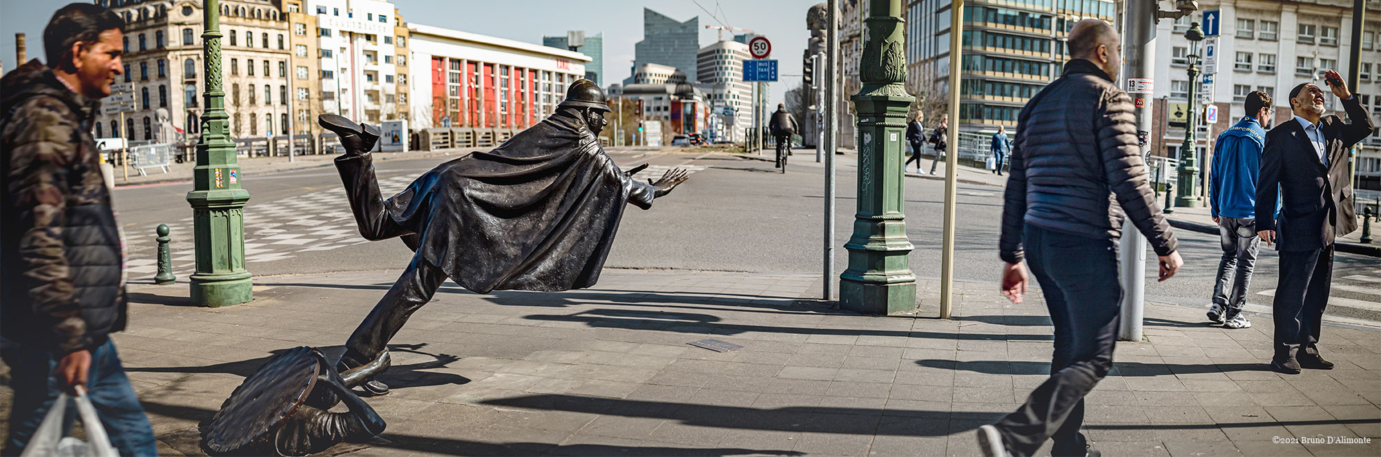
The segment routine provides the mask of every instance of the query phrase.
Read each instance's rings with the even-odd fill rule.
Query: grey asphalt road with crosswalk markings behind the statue
[[[663,167],[693,166],[689,181],[671,195],[657,199],[650,210],[628,207],[619,229],[608,268],[667,268],[737,272],[819,272],[823,268],[823,167],[815,164],[813,150],[798,150],[786,174],[771,162],[707,153],[699,148],[656,150],[613,150],[610,156],[626,170],[650,163]],[[855,156],[838,156],[836,208],[836,273],[847,266],[842,244],[852,233],[855,211]],[[453,157],[388,160],[376,163],[380,181],[407,179]],[[702,168],[703,167],[703,168]],[[642,178],[653,177],[648,171]],[[396,181],[395,179],[395,181]],[[327,215],[334,222],[349,222],[340,178],[334,168],[322,167],[267,175],[246,175],[243,186],[251,200],[246,206],[246,239],[268,237],[276,228],[261,228],[257,208],[272,208],[296,197],[338,193],[337,202],[319,207],[297,208],[311,232]],[[906,233],[916,249],[911,269],[921,278],[939,278],[943,182],[907,178],[905,196]],[[131,233],[131,260],[152,258],[152,228],[191,217],[185,193],[191,184],[166,184],[119,188],[116,208],[126,231]],[[385,189],[387,191],[387,189]],[[956,265],[958,280],[992,282],[997,287],[1001,261],[997,237],[1001,217],[1001,188],[961,184],[956,231]],[[283,218],[279,215],[278,218]],[[279,221],[273,221],[279,222]],[[333,222],[333,224],[334,224]],[[138,233],[146,233],[144,236]],[[1177,231],[1185,268],[1168,282],[1156,283],[1155,254],[1148,251],[1146,298],[1159,302],[1204,307],[1210,302],[1219,247],[1217,236]],[[191,253],[186,233],[174,233],[174,257]],[[362,242],[358,233],[348,237]],[[269,249],[276,244],[271,244]],[[291,255],[267,261],[249,261],[254,275],[320,273],[336,271],[402,269],[410,251],[398,240],[351,244],[320,251],[298,251],[304,246],[286,244]],[[1269,307],[1276,287],[1275,251],[1264,249],[1250,289],[1248,301]],[[181,269],[191,265],[177,265]],[[1337,312],[1381,322],[1381,260],[1338,254],[1334,266],[1333,305]],[[152,276],[152,275],[146,275]],[[185,275],[180,275],[185,276]],[[1351,278],[1351,279],[1349,279]],[[145,278],[146,279],[146,278]],[[180,278],[185,279],[185,278]],[[1341,305],[1340,305],[1341,302]],[[1248,308],[1251,311],[1253,308]],[[1261,311],[1261,308],[1255,308]]]

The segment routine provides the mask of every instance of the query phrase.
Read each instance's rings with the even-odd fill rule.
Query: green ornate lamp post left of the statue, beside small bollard
[[[244,202],[240,167],[235,160],[221,90],[221,7],[204,0],[206,30],[202,32],[206,113],[196,142],[192,168],[192,204],[196,242],[196,272],[192,273],[192,302],[206,307],[236,305],[253,298],[250,272],[244,269]]]

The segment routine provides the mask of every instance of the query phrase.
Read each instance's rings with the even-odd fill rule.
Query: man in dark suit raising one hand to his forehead
[[[1333,369],[1319,355],[1319,320],[1333,280],[1333,240],[1358,228],[1348,148],[1371,134],[1371,117],[1337,72],[1324,73],[1351,123],[1324,116],[1324,94],[1304,83],[1290,91],[1294,119],[1266,133],[1257,178],[1257,235],[1280,251],[1271,369]],[[1276,192],[1282,211],[1276,220]]]

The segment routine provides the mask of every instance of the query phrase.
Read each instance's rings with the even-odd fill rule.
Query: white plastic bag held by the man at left
[[[81,425],[87,431],[86,442],[72,436],[62,436],[62,417],[68,409],[68,393],[64,392],[58,395],[57,402],[52,402],[48,416],[43,417],[43,422],[39,424],[39,429],[29,438],[29,446],[23,447],[23,454],[19,454],[19,457],[119,457],[115,446],[110,446],[110,438],[106,436],[105,427],[101,425],[101,418],[95,416],[95,406],[91,405],[91,398],[86,395],[86,389],[80,385],[77,387],[76,403]]]

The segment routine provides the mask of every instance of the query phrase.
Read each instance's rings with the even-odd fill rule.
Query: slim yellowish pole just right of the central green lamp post
[[[945,150],[945,228],[940,247],[940,319],[954,311],[954,217],[958,197],[958,62],[960,39],[964,30],[964,0],[950,4],[950,75],[949,75],[949,141]]]

